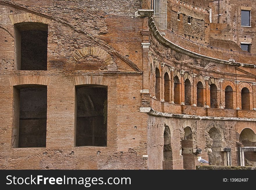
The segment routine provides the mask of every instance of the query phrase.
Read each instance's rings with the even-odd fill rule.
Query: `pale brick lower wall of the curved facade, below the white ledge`
[[[170,139],[173,153],[173,169],[195,169],[200,165],[197,158],[201,156],[210,160],[211,165],[224,165],[224,152],[221,147],[231,148],[232,165],[237,165],[237,130],[242,126],[253,128],[255,122],[243,122],[234,120],[194,120],[172,117],[159,117],[148,115],[148,154],[149,169],[162,169],[163,162],[163,130],[168,125],[171,129]],[[188,126],[192,131],[193,147],[188,140],[184,140],[184,128]],[[213,133],[213,131],[215,131]],[[214,137],[215,136],[215,137]],[[193,149],[202,149],[201,153],[193,153]],[[183,154],[183,155],[182,155]],[[252,152],[248,152],[247,158],[255,161]],[[184,155],[186,160],[184,161]],[[205,164],[204,164],[205,165]],[[209,165],[209,164],[206,164]]]

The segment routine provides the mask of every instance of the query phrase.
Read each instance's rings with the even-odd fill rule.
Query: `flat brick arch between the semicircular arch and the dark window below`
[[[76,76],[71,77],[72,84],[81,85],[81,84],[99,84],[104,86],[111,86],[111,78],[104,77],[101,75],[83,75],[83,76]]]

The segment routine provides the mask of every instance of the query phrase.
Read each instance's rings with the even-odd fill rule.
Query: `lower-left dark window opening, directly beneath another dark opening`
[[[47,86],[17,86],[14,92],[19,98],[16,100],[19,105],[18,147],[45,147]]]

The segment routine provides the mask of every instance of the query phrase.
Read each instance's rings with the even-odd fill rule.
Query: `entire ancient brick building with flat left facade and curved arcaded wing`
[[[255,1],[0,0],[2,169],[256,166]]]

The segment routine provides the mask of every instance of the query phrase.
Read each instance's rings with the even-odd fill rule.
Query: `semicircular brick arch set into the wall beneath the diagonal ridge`
[[[112,56],[102,48],[96,46],[86,46],[76,50],[67,61],[66,70],[74,70],[79,59],[87,55],[100,57],[106,63],[108,70],[117,70],[117,65]]]

